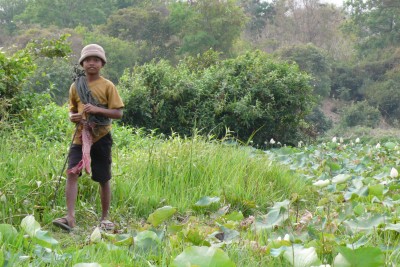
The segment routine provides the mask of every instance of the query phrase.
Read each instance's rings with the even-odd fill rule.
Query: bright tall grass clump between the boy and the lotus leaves
[[[183,212],[203,196],[221,197],[239,209],[251,208],[250,203],[265,209],[304,192],[304,182],[262,153],[200,136],[150,138],[142,147],[116,149],[114,158],[116,205],[139,216],[162,205]]]

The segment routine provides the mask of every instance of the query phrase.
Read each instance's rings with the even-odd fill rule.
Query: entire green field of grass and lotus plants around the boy
[[[66,212],[72,133],[51,105],[2,125],[0,266],[398,266],[396,139],[262,151],[115,125],[117,228],[97,227],[98,185],[84,175],[68,233],[51,221]]]

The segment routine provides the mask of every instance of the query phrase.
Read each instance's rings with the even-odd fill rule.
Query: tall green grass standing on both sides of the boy
[[[73,129],[68,131],[72,135]],[[12,207],[3,222],[51,208],[56,191],[56,209],[62,209],[65,174],[59,175],[70,142],[65,139],[37,142],[21,131],[0,137],[0,191]],[[304,181],[251,147],[201,136],[160,139],[123,127],[114,127],[114,140],[112,216],[117,219],[121,214],[145,218],[164,205],[191,212],[203,196],[220,197],[222,204],[244,213],[265,211],[274,201],[305,192]],[[98,197],[97,184],[83,175],[78,209],[97,212]]]

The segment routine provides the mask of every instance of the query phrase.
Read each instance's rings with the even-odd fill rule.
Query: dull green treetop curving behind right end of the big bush
[[[282,59],[296,62],[302,71],[313,76],[311,86],[315,95],[320,97],[330,95],[331,59],[322,49],[307,44],[282,48],[277,54]]]

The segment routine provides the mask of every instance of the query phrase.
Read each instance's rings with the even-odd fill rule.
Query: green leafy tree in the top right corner
[[[347,0],[349,13],[344,30],[357,36],[361,56],[371,50],[397,46],[400,41],[398,0]]]

